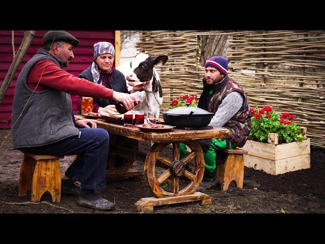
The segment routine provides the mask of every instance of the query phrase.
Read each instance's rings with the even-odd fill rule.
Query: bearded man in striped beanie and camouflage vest
[[[214,186],[216,181],[216,151],[236,148],[245,144],[251,130],[250,112],[246,94],[240,85],[228,76],[228,62],[214,56],[205,64],[203,93],[198,107],[214,113],[209,126],[225,127],[230,131],[228,140],[208,139],[199,141],[205,159],[205,171],[199,191]],[[187,154],[181,145],[181,157]]]

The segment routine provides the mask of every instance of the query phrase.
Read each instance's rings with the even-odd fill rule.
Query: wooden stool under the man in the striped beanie
[[[235,180],[237,187],[243,188],[244,182],[244,154],[246,150],[223,149],[221,154],[217,154],[216,161],[221,163],[217,167],[217,180],[221,186],[221,191],[227,191],[229,184]],[[218,152],[219,153],[219,152]]]

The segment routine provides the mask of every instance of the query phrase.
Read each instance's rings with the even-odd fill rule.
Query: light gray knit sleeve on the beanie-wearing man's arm
[[[244,99],[239,92],[232,92],[225,96],[209,126],[223,127],[239,111],[243,102]]]

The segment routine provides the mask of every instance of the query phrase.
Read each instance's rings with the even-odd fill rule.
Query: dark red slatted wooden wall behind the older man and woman
[[[36,31],[35,37],[19,66],[14,79],[0,105],[0,128],[11,128],[11,109],[16,80],[24,64],[36,53],[37,49],[43,48],[42,38],[47,31]],[[96,42],[106,41],[115,46],[115,31],[68,31],[80,41],[78,47],[73,49],[75,58],[64,70],[78,76],[81,71],[87,68],[93,58],[92,46]],[[23,31],[14,31],[15,50],[17,51],[23,38]],[[8,69],[13,60],[11,31],[0,31],[0,85],[5,79]],[[75,96],[72,97],[73,109],[76,111]]]

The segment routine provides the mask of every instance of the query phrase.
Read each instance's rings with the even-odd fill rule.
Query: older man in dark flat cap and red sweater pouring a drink
[[[106,187],[105,173],[109,146],[106,130],[89,119],[75,120],[72,95],[105,98],[134,107],[129,94],[75,77],[63,70],[74,58],[79,41],[64,31],[49,31],[43,37],[44,49],[21,70],[14,94],[12,137],[14,149],[32,154],[78,155],[61,181],[61,193],[79,196],[78,204],[109,210],[114,206],[95,194]],[[81,189],[74,181],[81,182]]]

